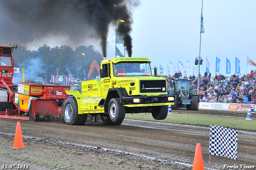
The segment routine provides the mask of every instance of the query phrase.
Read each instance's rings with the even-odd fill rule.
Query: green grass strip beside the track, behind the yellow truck
[[[139,114],[126,114],[126,119],[135,120],[149,120],[159,121],[177,124],[192,124],[202,126],[222,126],[227,128],[243,129],[243,130],[256,130],[256,119],[245,120],[245,118],[232,118],[232,117],[220,117],[220,116],[206,116],[196,114],[168,114],[164,120],[155,120],[151,114],[139,113]]]

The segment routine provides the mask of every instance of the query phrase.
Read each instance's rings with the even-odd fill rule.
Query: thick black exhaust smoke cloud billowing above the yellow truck
[[[124,46],[132,55],[132,8],[138,0],[4,0],[0,1],[1,44],[25,40],[58,40],[79,45],[100,40],[103,56],[110,27],[124,35]],[[125,22],[119,22],[124,20]]]

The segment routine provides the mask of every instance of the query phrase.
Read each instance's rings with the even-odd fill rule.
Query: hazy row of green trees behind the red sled
[[[18,46],[19,47],[19,46]],[[83,56],[82,53],[85,55]],[[102,54],[94,49],[94,46],[78,46],[73,50],[70,46],[62,45],[60,47],[44,44],[38,50],[27,50],[26,46],[17,48],[14,51],[15,67],[25,68],[25,80],[42,76],[45,82],[51,80],[51,75],[58,75],[64,80],[64,74],[70,76],[70,79],[76,82],[87,78],[90,66],[94,60],[100,63],[103,59]],[[24,60],[25,59],[25,60]],[[94,70],[91,78],[96,78],[98,72]]]

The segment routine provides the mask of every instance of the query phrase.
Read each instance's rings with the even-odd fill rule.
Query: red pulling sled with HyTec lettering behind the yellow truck
[[[37,83],[19,83],[18,88],[14,86],[14,48],[17,46],[0,46],[0,118],[34,120],[48,115],[62,117],[61,106],[68,98],[65,90],[70,86]]]

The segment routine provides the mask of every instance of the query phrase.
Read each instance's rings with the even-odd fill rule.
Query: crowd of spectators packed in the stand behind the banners
[[[210,74],[210,72],[209,72]],[[204,76],[200,75],[200,81],[193,76],[183,76],[181,73],[175,73],[173,76],[165,76],[168,88],[172,88],[174,78],[191,79],[190,86],[197,93],[199,84],[199,96],[201,101],[206,102],[227,102],[227,103],[248,103],[255,102],[256,99],[256,70],[251,70],[249,74],[234,74],[225,77],[221,74],[215,75],[206,72]],[[178,76],[177,76],[178,75]]]

